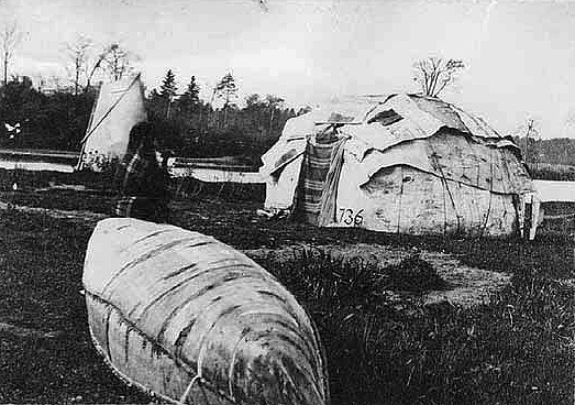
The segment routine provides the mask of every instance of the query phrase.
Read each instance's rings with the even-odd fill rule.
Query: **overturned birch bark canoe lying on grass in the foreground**
[[[329,403],[323,348],[303,308],[211,237],[102,220],[84,286],[93,343],[130,384],[173,403]]]

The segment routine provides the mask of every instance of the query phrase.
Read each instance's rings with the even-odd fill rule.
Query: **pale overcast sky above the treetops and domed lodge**
[[[442,97],[507,134],[534,118],[543,138],[575,138],[575,2],[268,0],[0,0],[25,33],[14,73],[65,75],[78,34],[140,56],[148,89],[172,68],[208,98],[231,72],[242,95],[290,105],[340,95],[417,91],[412,64],[463,59]],[[574,123],[568,125],[568,119]]]

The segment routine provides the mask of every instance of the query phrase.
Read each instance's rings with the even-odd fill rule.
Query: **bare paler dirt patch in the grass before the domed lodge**
[[[389,299],[410,302],[422,298],[423,305],[447,303],[453,306],[472,307],[489,304],[489,298],[505,286],[510,284],[511,275],[494,271],[471,267],[462,264],[453,254],[430,252],[414,248],[372,245],[356,243],[350,245],[309,245],[298,244],[279,249],[244,250],[245,254],[254,260],[267,262],[289,263],[301,256],[323,254],[334,260],[355,261],[373,266],[374,270],[385,272],[389,267],[398,266],[402,260],[418,255],[430,263],[438,275],[445,282],[446,288],[428,291],[422,294],[412,294],[401,291],[382,292]],[[421,299],[418,299],[421,302]]]

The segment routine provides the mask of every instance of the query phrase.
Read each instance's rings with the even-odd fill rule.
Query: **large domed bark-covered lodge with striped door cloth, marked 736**
[[[506,236],[531,179],[480,118],[414,95],[358,98],[286,123],[262,156],[268,210],[319,226]]]

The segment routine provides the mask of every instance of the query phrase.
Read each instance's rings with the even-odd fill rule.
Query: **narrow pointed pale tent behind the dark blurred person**
[[[98,169],[100,162],[121,158],[128,147],[130,130],[146,119],[140,75],[100,85],[82,139],[78,168]]]

